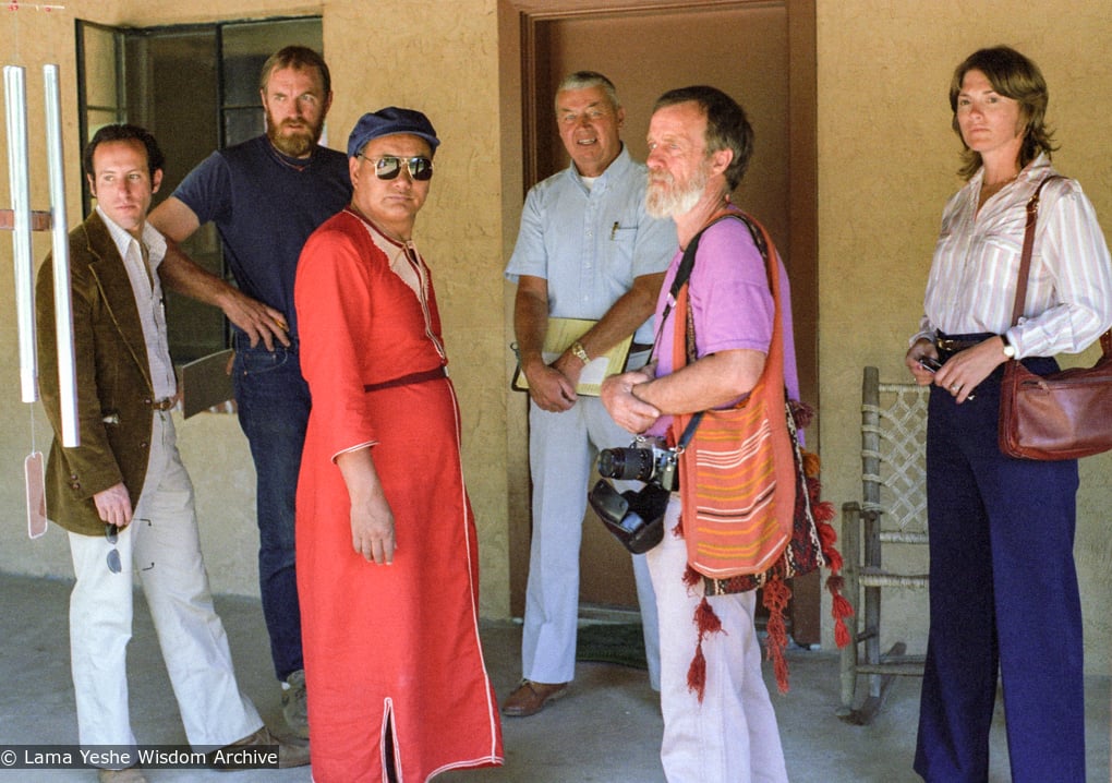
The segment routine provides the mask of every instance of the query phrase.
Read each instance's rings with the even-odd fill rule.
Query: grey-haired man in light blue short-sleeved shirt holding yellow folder
[[[533,543],[522,640],[524,680],[503,704],[533,715],[567,693],[575,673],[579,544],[592,463],[629,445],[598,397],[577,396],[587,363],[633,335],[628,367],[648,358],[656,296],[676,249],[675,226],[645,211],[647,171],[619,138],[625,111],[614,85],[593,71],[566,77],[556,120],[572,165],[534,186],[506,277],[522,373],[529,386]],[[552,363],[542,353],[549,318],[596,321]],[[639,488],[631,484],[631,488]],[[626,488],[626,487],[619,487]],[[634,576],[649,682],[659,690],[656,599],[644,556]]]

